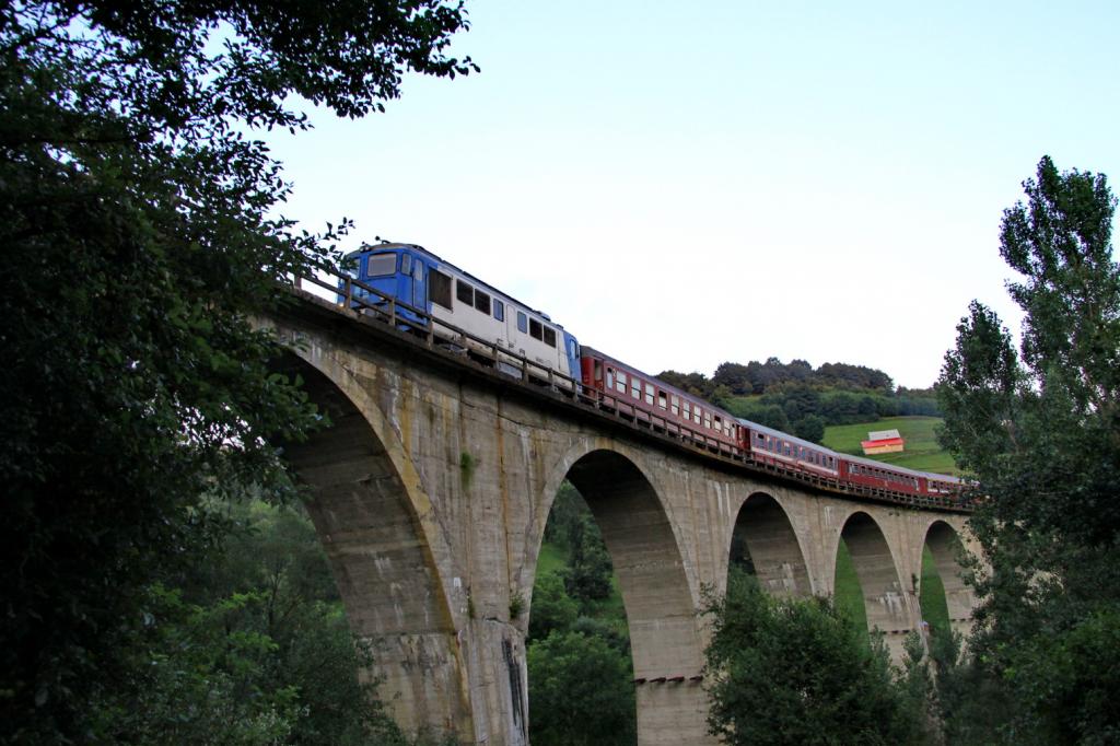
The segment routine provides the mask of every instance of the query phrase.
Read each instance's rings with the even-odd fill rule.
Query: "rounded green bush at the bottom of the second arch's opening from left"
[[[534,746],[628,746],[635,742],[629,656],[580,632],[553,632],[529,647],[529,735]]]

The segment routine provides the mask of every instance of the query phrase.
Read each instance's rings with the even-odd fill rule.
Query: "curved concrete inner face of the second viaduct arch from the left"
[[[662,496],[631,458],[603,448],[592,448],[559,476],[590,509],[618,578],[634,661],[638,743],[702,740],[706,698],[697,612]],[[549,488],[554,492],[559,482]],[[544,504],[551,506],[552,498],[547,495]]]

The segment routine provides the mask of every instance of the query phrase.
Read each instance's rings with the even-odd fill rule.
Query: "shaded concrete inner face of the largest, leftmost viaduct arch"
[[[355,403],[368,397],[302,354],[286,353],[274,369],[298,374],[332,425],[286,444],[286,460],[309,491],[306,507],[351,630],[373,644],[374,668],[364,674],[381,680],[379,694],[405,733],[470,737],[456,630],[417,497],[368,419],[375,404]]]

